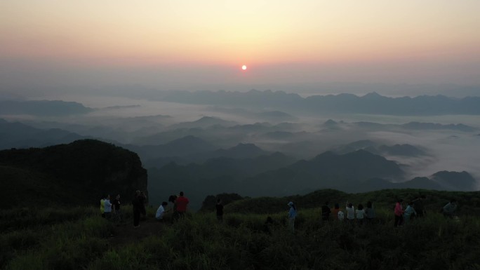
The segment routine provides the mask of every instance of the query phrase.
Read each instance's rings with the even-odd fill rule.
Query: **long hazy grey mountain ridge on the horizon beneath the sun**
[[[378,93],[364,96],[353,94],[312,95],[300,97],[283,91],[250,90],[246,93],[227,91],[172,91],[162,100],[189,104],[225,104],[237,106],[262,105],[275,109],[295,109],[303,112],[328,112],[352,114],[389,115],[444,115],[480,114],[480,97],[462,99],[444,95],[420,95],[417,97],[385,97]]]

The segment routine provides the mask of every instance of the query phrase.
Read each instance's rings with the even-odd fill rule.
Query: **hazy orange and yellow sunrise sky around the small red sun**
[[[480,86],[479,14],[478,0],[2,0],[0,90]]]

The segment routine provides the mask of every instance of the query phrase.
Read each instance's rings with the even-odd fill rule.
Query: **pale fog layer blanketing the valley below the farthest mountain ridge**
[[[338,149],[344,144],[359,140],[371,140],[378,145],[388,146],[411,144],[423,149],[426,154],[415,157],[385,156],[404,165],[406,180],[415,176],[429,176],[440,170],[465,170],[480,179],[479,116],[300,115],[294,112],[272,114],[276,112],[272,108],[247,110],[241,107],[179,104],[126,97],[57,95],[43,99],[80,102],[86,107],[98,110],[83,116],[33,119],[22,119],[21,116],[1,117],[10,121],[23,121],[36,128],[62,128],[80,135],[123,144],[165,144],[185,135],[194,135],[216,143],[219,148],[248,142],[264,150],[281,151],[295,158],[312,158],[324,151]],[[204,116],[222,120],[218,124],[222,128],[215,127],[215,123],[194,123]],[[335,123],[325,124],[328,119]],[[462,123],[472,126],[474,130],[401,127],[402,124],[412,121],[443,125]],[[356,124],[358,122],[374,122],[382,126],[361,126]],[[255,123],[262,123],[265,128],[242,126]],[[176,130],[182,132],[177,133]]]

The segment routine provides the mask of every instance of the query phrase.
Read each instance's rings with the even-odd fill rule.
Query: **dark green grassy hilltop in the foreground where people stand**
[[[392,201],[427,196],[428,215],[393,228]],[[457,198],[460,220],[439,206]],[[479,192],[413,189],[345,194],[320,190],[287,198],[245,198],[190,213],[171,224],[153,219],[133,229],[100,217],[97,208],[18,208],[0,211],[2,269],[479,269]],[[374,224],[322,222],[324,201],[374,201]],[[297,234],[286,229],[286,203],[298,204]],[[274,224],[265,227],[267,216]]]

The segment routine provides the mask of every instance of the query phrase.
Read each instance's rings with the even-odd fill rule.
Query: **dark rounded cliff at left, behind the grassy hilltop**
[[[147,170],[142,168],[138,155],[98,140],[0,151],[0,166],[2,170],[15,168],[29,172],[27,178],[25,174],[9,173],[4,174],[8,177],[0,180],[7,189],[8,184],[5,183],[15,182],[15,190],[11,192],[24,199],[29,196],[28,193],[35,192],[32,187],[41,186],[46,180],[48,184],[53,184],[55,193],[65,193],[45,192],[42,201],[51,203],[97,204],[104,194],[112,197],[120,194],[122,202],[128,203],[135,190],[147,191]],[[28,191],[27,194],[24,191]],[[2,194],[7,192],[2,191]],[[65,196],[69,199],[65,200]],[[16,201],[15,198],[13,201]]]

